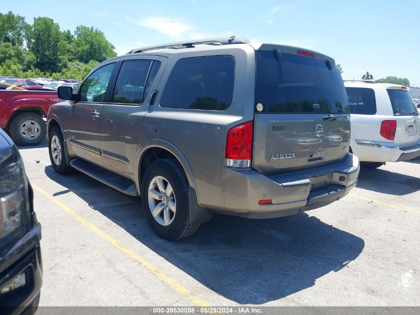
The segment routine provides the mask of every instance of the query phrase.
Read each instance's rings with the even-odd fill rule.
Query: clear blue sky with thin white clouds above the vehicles
[[[61,29],[97,27],[118,54],[132,48],[211,36],[313,49],[341,64],[343,79],[406,77],[420,86],[420,1],[96,0],[2,1],[32,23],[48,16]]]

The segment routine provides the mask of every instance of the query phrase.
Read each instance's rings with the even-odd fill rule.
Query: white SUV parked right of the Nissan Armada
[[[350,150],[365,167],[420,156],[419,112],[409,88],[344,81],[351,113]]]

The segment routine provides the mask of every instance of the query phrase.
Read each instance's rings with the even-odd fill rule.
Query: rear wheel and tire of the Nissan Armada
[[[149,165],[142,181],[142,203],[150,226],[162,238],[180,239],[200,226],[189,222],[188,182],[174,159]]]

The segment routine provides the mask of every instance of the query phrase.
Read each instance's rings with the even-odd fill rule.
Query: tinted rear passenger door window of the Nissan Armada
[[[152,60],[125,60],[118,73],[112,103],[141,104]]]

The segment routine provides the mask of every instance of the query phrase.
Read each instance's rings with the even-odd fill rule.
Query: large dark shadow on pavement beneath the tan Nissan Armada
[[[364,247],[363,239],[306,213],[265,220],[215,215],[191,237],[168,242],[149,227],[140,198],[78,171],[62,176],[48,166],[45,173],[67,188],[55,196],[75,193],[169,263],[240,304],[262,304],[312,287],[347,267]]]

